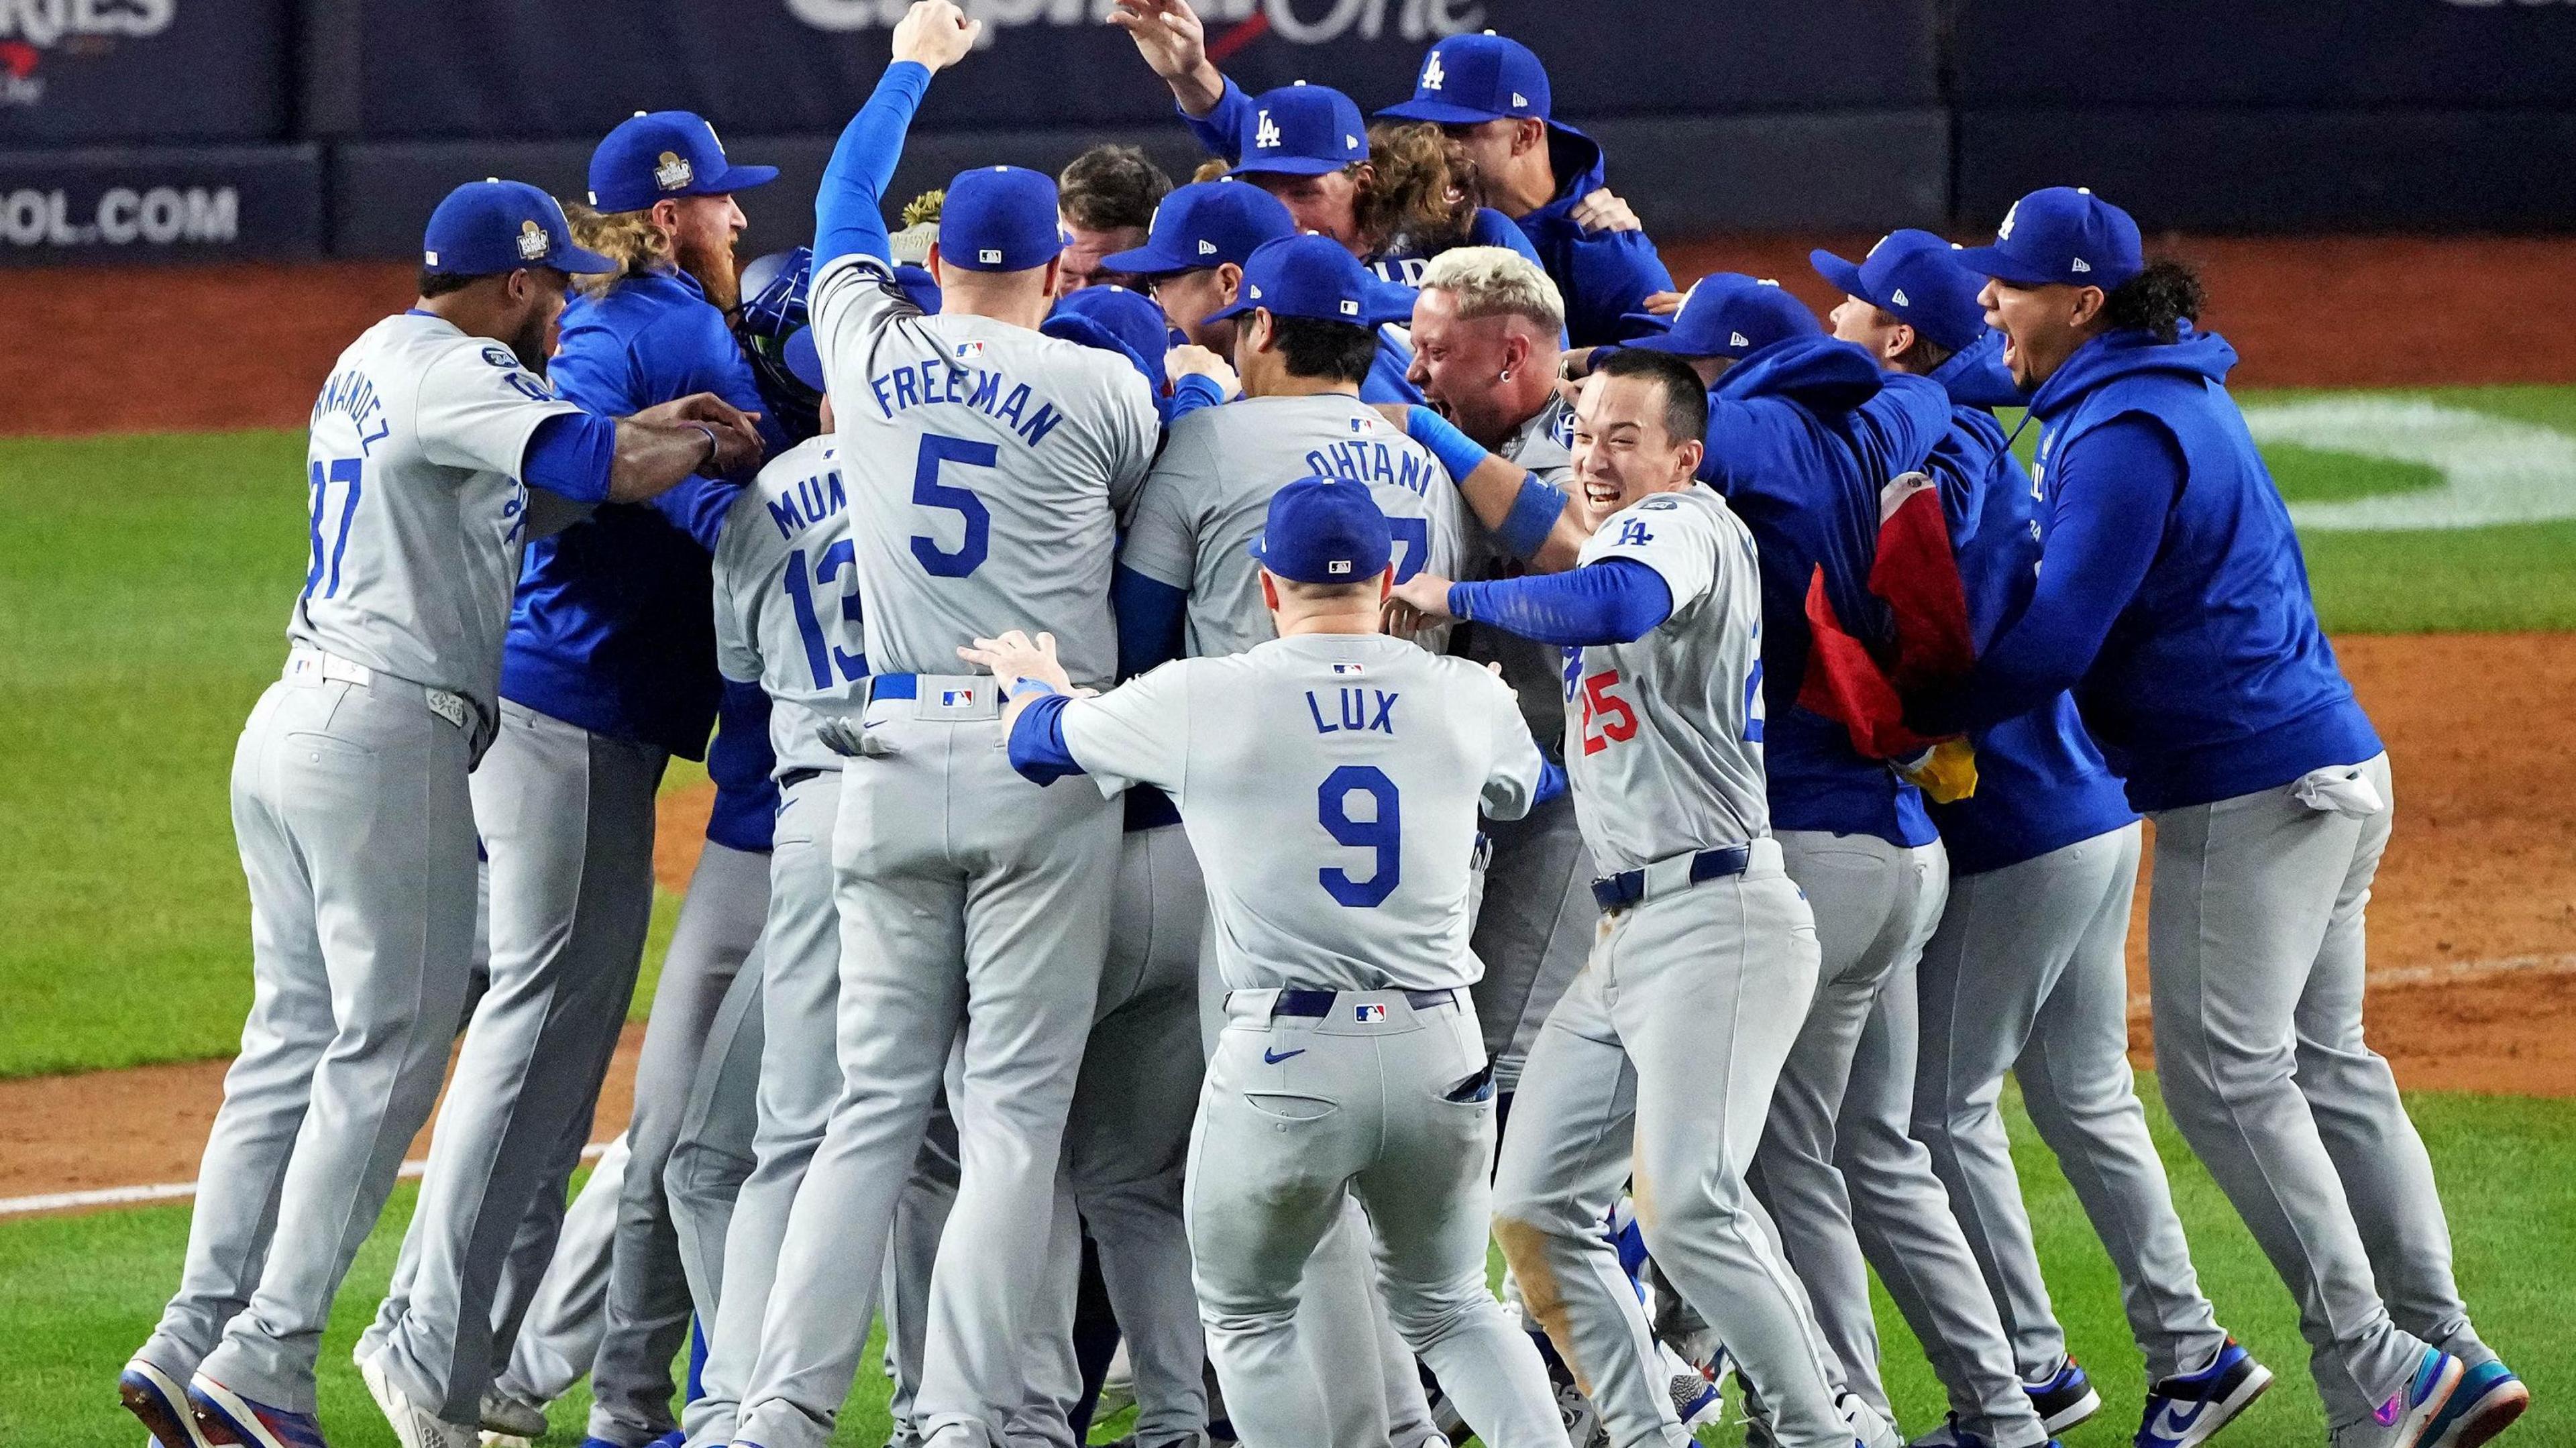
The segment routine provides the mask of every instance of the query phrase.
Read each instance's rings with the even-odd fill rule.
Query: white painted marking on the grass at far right
[[[2257,443],[2414,464],[2439,487],[2293,502],[2303,533],[2398,533],[2576,518],[2576,438],[2403,397],[2321,397],[2244,410]]]

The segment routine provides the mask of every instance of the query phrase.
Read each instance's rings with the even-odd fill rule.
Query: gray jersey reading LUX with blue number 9
[[[1180,806],[1231,989],[1473,984],[1476,801],[1517,819],[1543,773],[1502,680],[1376,634],[1164,665],[1069,703],[1064,745]]]

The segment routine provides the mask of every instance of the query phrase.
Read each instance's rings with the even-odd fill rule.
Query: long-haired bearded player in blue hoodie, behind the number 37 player
[[[621,268],[564,312],[554,376],[572,402],[621,415],[716,392],[762,410],[724,307],[742,229],[734,191],[775,175],[732,165],[716,131],[685,111],[636,116],[600,142],[587,234]],[[768,441],[783,443],[775,430]],[[474,773],[492,989],[474,1007],[440,1110],[407,1268],[358,1342],[368,1389],[407,1448],[471,1435],[507,1355],[492,1335],[502,1257],[531,1211],[546,1226],[562,1219],[562,1183],[590,1131],[652,920],[654,788],[670,755],[706,755],[716,716],[706,549],[729,500],[732,484],[701,479],[528,549],[502,649],[502,729]],[[757,861],[726,863],[744,866],[742,881],[760,876]],[[737,920],[755,910],[757,899],[732,907]],[[665,1069],[654,1077],[667,1090],[641,1098],[629,1139],[644,1157],[639,1198],[621,1214],[636,1260],[611,1275],[611,1311],[649,1329],[603,1340],[629,1358],[611,1363],[592,1417],[621,1448],[670,1427],[667,1363],[685,1332],[662,1154],[683,1067],[726,984],[721,971],[690,979],[693,961],[719,966],[719,956],[683,956],[683,976],[662,989],[659,1033],[675,1046],[657,1051]]]

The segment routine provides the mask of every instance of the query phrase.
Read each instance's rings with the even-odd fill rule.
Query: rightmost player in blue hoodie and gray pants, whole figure
[[[2226,397],[2236,353],[2192,330],[2197,278],[2148,265],[2089,191],[2025,196],[1958,260],[2038,386],[2045,538],[2030,608],[1906,721],[1986,727],[2076,691],[2156,822],[2164,1100],[2298,1299],[2334,1443],[2486,1443],[2530,1391],[2468,1322],[2432,1162],[2362,1038],[2388,755]]]

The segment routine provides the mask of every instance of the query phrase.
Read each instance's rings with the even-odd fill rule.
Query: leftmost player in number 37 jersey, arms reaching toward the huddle
[[[258,1000],[206,1139],[188,1265],[121,1378],[162,1448],[317,1448],[314,1353],[394,1167],[430,1116],[474,961],[474,806],[536,484],[569,515],[750,464],[742,412],[623,423],[544,381],[572,245],[551,196],[461,186],[420,301],[314,402],[312,567],[286,678],[232,768]]]

